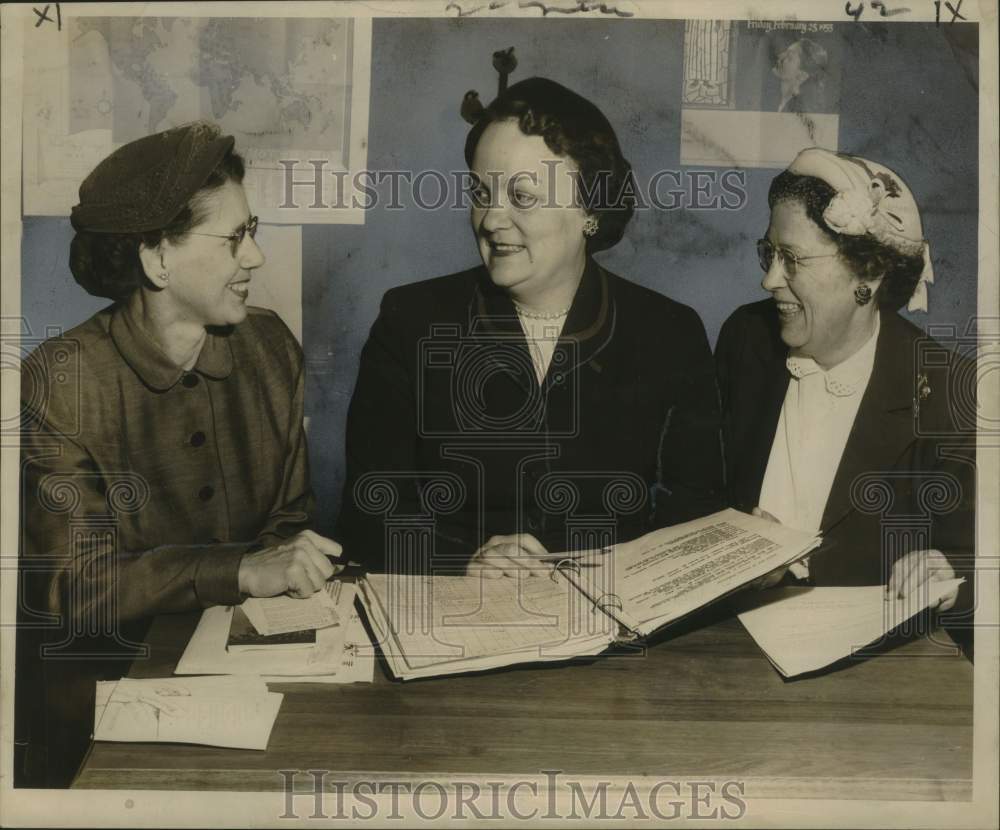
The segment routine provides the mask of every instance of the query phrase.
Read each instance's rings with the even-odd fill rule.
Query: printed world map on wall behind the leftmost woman
[[[119,144],[207,119],[252,156],[345,147],[348,20],[82,17],[70,25],[70,133],[110,129]]]

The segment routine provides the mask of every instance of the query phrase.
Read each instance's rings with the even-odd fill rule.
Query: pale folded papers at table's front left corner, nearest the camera
[[[267,749],[281,699],[244,677],[99,682],[94,740]]]

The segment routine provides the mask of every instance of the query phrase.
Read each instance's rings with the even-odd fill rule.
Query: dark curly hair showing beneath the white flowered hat
[[[771,181],[767,204],[774,207],[781,201],[796,201],[808,216],[837,245],[841,259],[860,279],[882,278],[875,301],[879,308],[896,311],[910,299],[924,269],[920,254],[902,254],[884,245],[871,234],[848,236],[827,227],[823,211],[837,194],[830,185],[814,176],[800,176],[785,170]]]

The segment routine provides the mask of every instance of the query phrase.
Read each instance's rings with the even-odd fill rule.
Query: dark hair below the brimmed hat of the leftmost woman
[[[244,174],[243,157],[230,150],[209,174],[205,184],[165,228],[145,233],[77,231],[69,249],[69,267],[73,278],[95,297],[106,297],[115,302],[126,300],[146,280],[139,260],[139,246],[153,248],[164,239],[181,241],[205,219],[205,197],[228,181],[242,184]]]

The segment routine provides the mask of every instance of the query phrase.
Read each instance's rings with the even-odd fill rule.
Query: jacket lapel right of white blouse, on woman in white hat
[[[823,511],[828,533],[851,511],[851,489],[865,472],[890,470],[916,440],[913,428],[914,349],[906,324],[884,313],[871,380],[847,438]]]

